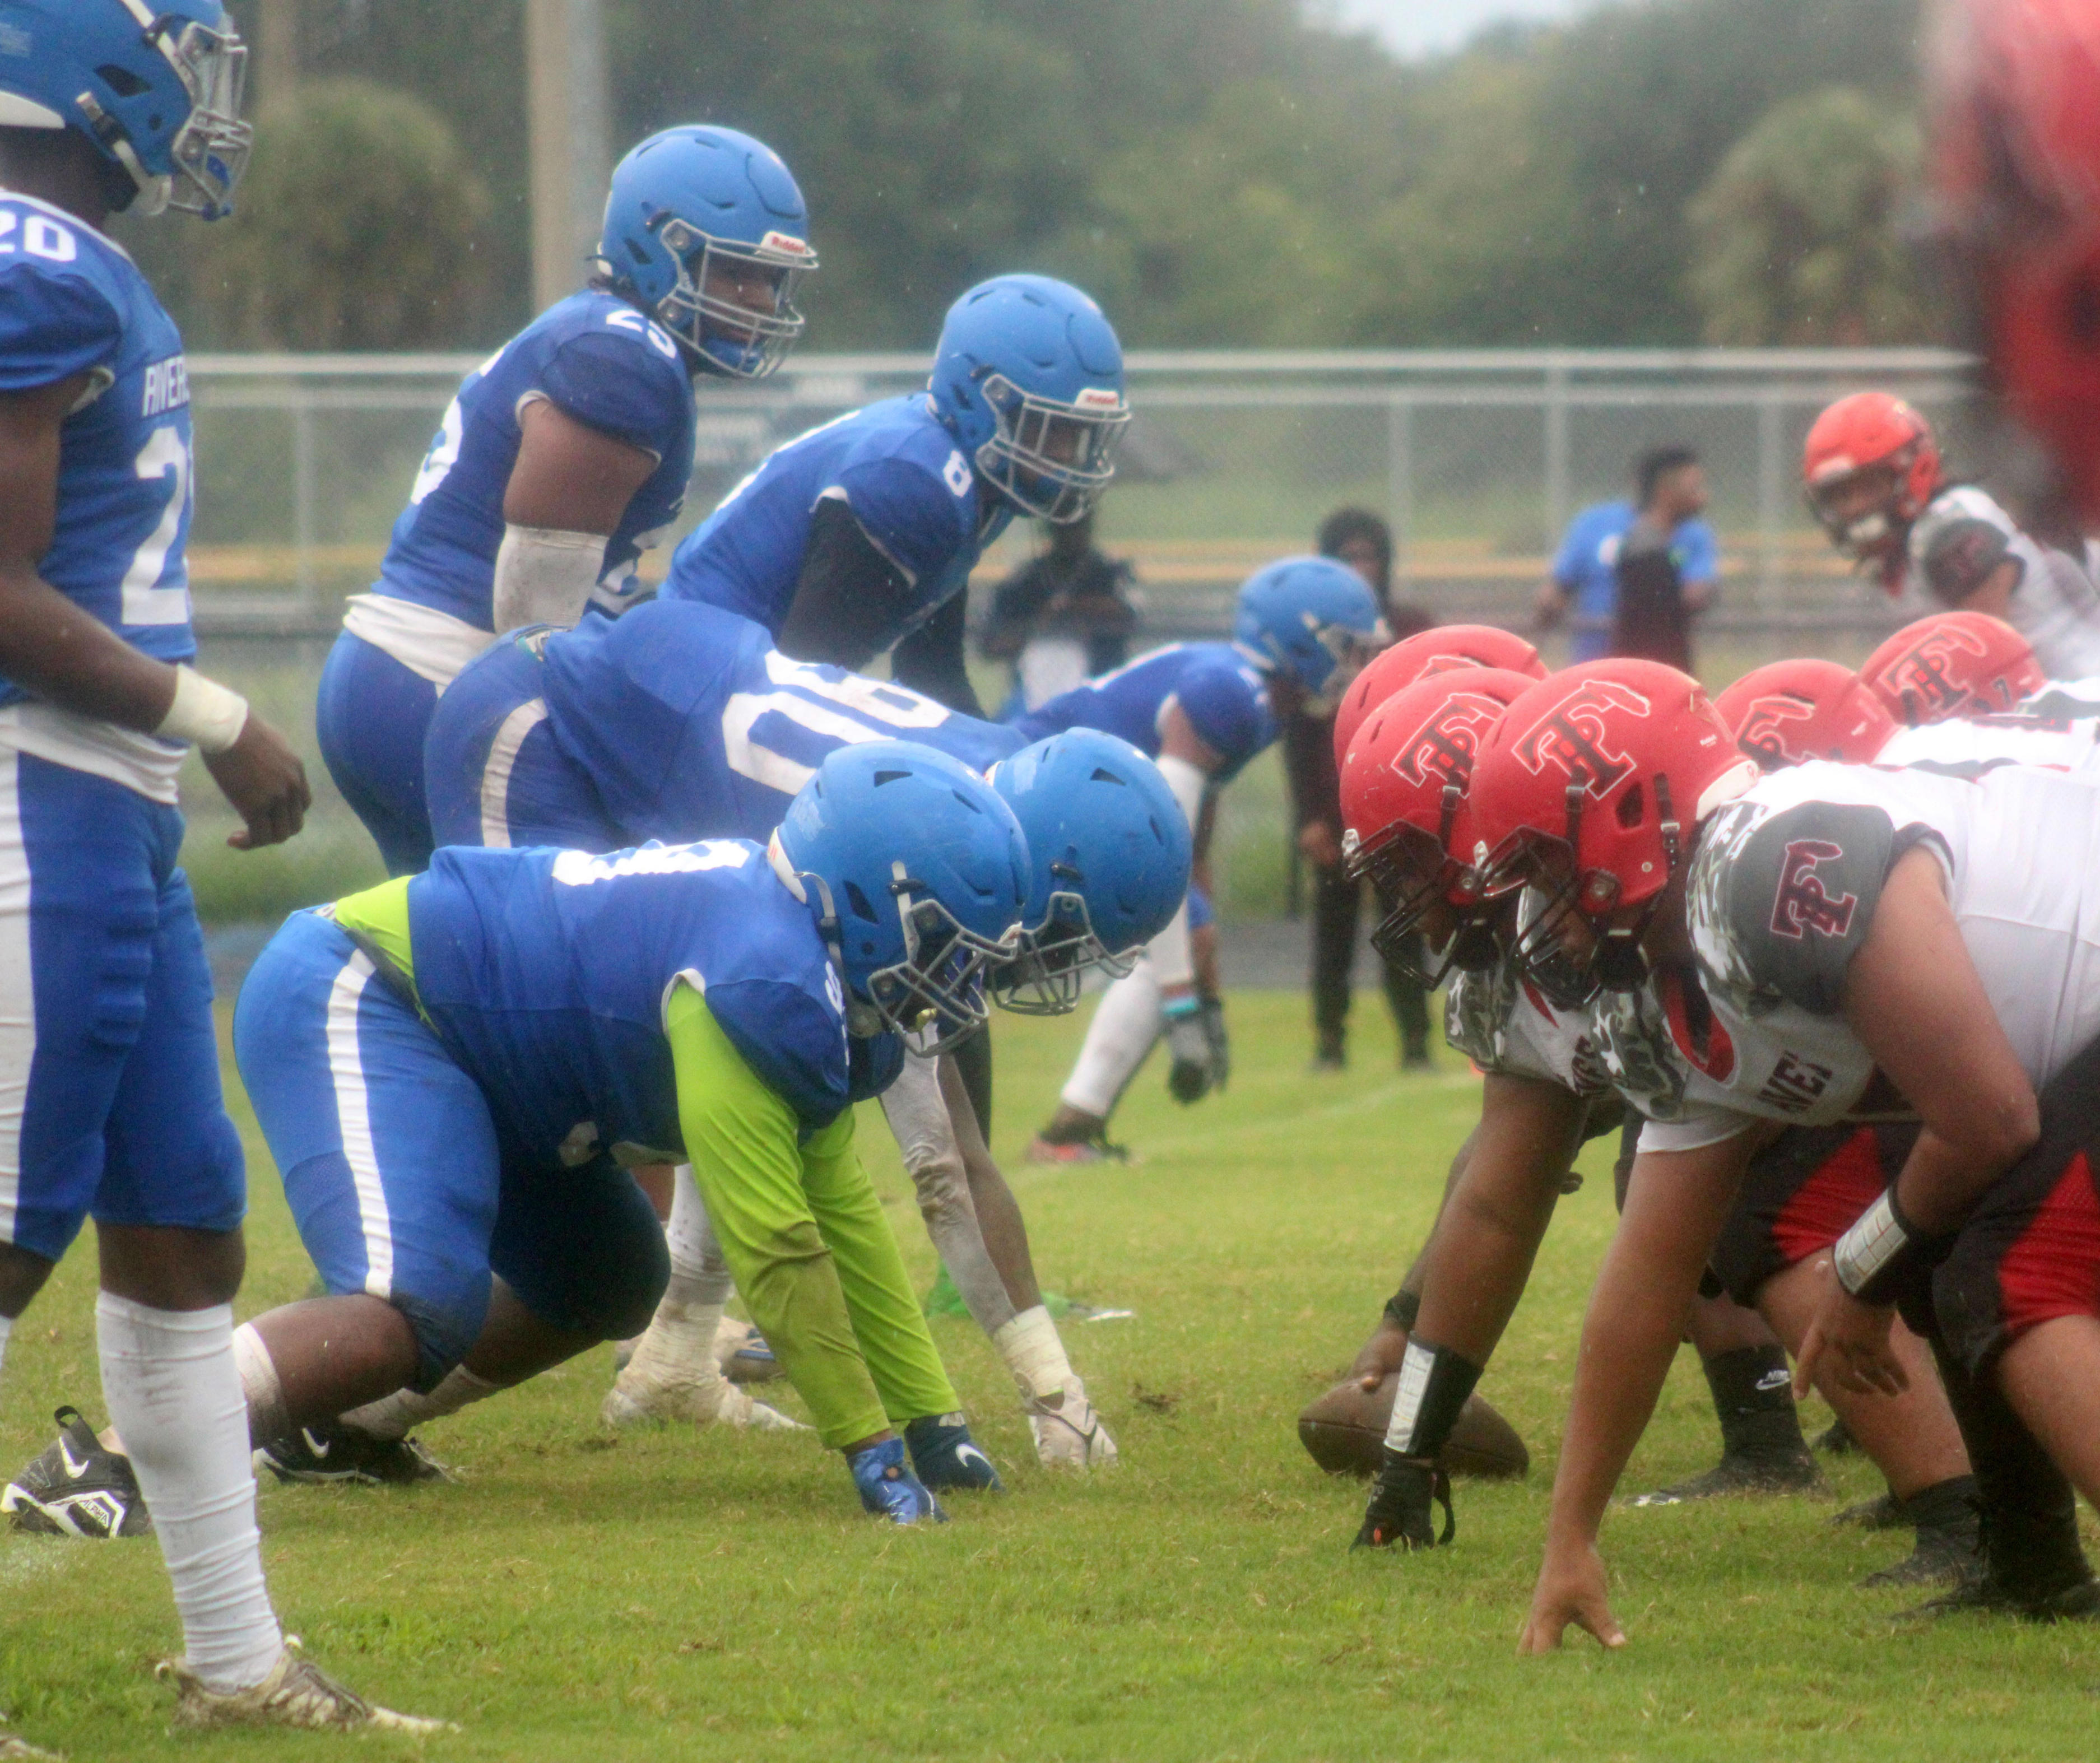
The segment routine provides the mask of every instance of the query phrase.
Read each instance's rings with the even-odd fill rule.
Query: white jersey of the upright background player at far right
[[[2052,680],[2100,674],[2100,590],[2085,560],[2037,544],[1972,483],[1942,489],[1911,527],[1905,611],[1915,617],[1947,611],[2003,558],[2020,565],[2006,621],[2026,638],[2041,672]]]

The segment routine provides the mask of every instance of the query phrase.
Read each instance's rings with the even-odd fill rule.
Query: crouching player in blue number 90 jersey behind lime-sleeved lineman
[[[882,737],[922,741],[972,770],[1012,758],[993,777],[1035,850],[1027,923],[1056,942],[1031,947],[1010,984],[1002,970],[998,986],[1016,1005],[1069,1010],[1084,965],[1144,944],[1176,911],[1189,879],[1182,814],[1124,741],[1073,732],[1050,743],[1054,753],[1025,756],[1027,737],[1014,728],[897,684],[788,661],[760,625],[693,600],[491,644],[430,720],[430,819],[441,844],[603,852],[651,837],[762,840],[827,753]],[[1052,863],[1065,863],[1063,879]],[[1056,913],[1052,894],[1069,896]],[[884,1096],[934,1247],[1025,1385],[1037,1450],[1056,1463],[1109,1461],[1115,1446],[1042,1308],[1021,1211],[983,1150],[974,1104],[951,1079],[928,1064]],[[676,1177],[670,1242],[672,1289],[607,1417],[769,1423],[714,1375],[727,1270],[689,1173]]]

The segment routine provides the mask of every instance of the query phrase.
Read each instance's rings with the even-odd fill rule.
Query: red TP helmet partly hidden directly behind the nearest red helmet
[[[1367,875],[1386,909],[1371,947],[1424,986],[1451,968],[1485,968],[1493,936],[1476,921],[1478,873],[1466,783],[1474,753],[1508,703],[1533,684],[1508,667],[1426,674],[1388,697],[1342,760],[1342,852],[1352,877]],[[1438,907],[1455,919],[1430,947],[1415,932]]]

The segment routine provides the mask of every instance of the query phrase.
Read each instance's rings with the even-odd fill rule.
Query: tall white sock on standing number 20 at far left
[[[94,1337],[103,1400],[174,1583],[189,1669],[212,1690],[252,1687],[277,1664],[284,1631],[262,1585],[233,1305],[149,1310],[103,1293]]]

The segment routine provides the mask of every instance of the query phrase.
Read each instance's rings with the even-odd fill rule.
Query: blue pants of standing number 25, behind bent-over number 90
[[[388,875],[430,867],[422,741],[437,684],[386,651],[344,632],[328,651],[313,728],[328,774],[365,823]]]

